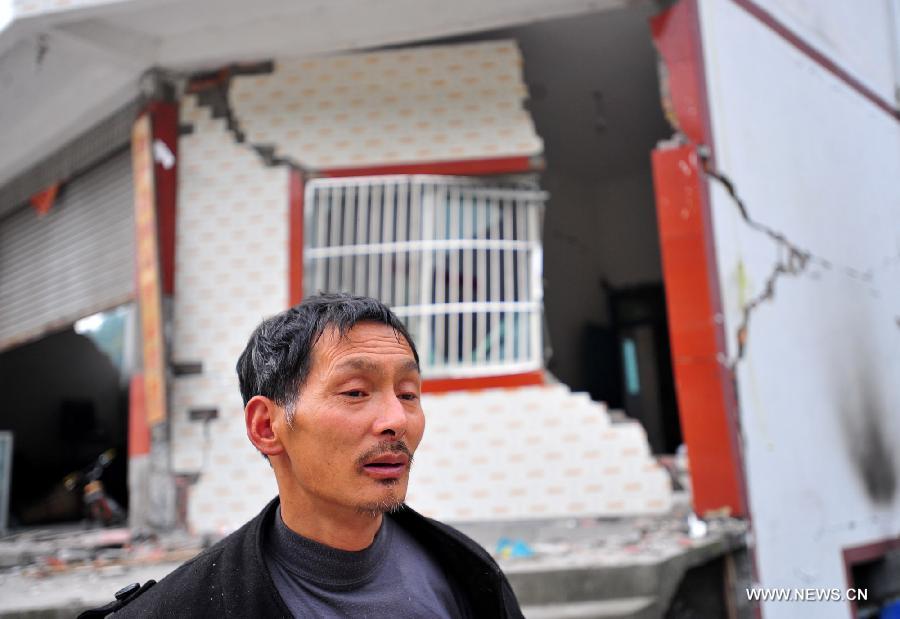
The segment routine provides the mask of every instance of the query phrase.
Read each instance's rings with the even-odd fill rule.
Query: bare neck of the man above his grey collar
[[[381,528],[382,514],[343,506],[316,506],[281,494],[281,519],[294,533],[339,550],[363,550]]]

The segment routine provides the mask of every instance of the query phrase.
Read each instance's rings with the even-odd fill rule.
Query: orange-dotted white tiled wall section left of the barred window
[[[288,172],[235,143],[193,97],[182,101],[181,122],[194,131],[178,145],[172,357],[199,361],[203,373],[173,380],[172,459],[176,472],[199,474],[191,528],[224,533],[277,493],[247,440],[234,365],[259,321],[287,306]],[[216,419],[189,418],[212,408]]]

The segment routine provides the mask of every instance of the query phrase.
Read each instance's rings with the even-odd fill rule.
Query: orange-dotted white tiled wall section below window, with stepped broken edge
[[[667,511],[668,475],[638,423],[565,386],[427,394],[407,496],[449,521]]]

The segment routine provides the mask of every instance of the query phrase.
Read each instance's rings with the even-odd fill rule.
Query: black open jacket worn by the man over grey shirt
[[[116,617],[291,617],[262,555],[263,534],[270,530],[277,506],[276,498],[253,520],[158,584],[123,590],[118,602],[85,616],[115,611]],[[471,616],[522,617],[509,582],[481,546],[409,507],[387,517],[434,556],[466,596]]]

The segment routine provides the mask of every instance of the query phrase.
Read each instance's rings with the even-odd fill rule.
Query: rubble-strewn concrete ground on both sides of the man
[[[664,517],[459,523],[500,562],[527,617],[662,617],[693,568],[739,550],[742,522]],[[33,529],[0,538],[0,619],[72,617],[132,582],[159,580],[208,540],[127,529]],[[718,589],[721,589],[717,585]]]

